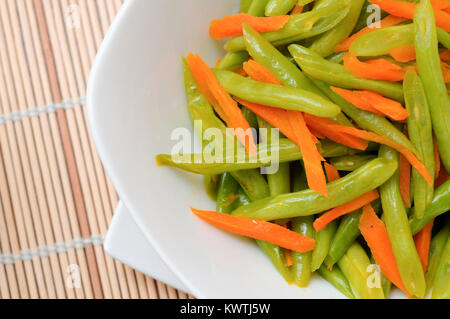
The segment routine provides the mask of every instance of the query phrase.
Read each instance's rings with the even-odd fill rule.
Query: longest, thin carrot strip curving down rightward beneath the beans
[[[309,122],[320,122],[323,121],[323,118],[316,117],[314,115],[305,114],[306,121]],[[428,184],[433,185],[433,178],[431,177],[430,173],[427,171],[425,166],[420,162],[417,157],[414,155],[413,152],[405,148],[404,146],[398,144],[397,142],[394,142],[393,140],[381,136],[372,132],[363,131],[354,127],[339,125],[333,122],[333,124],[329,123],[329,129],[333,130],[335,132],[340,133],[346,133],[361,139],[364,139],[366,141],[375,142],[378,144],[384,144],[389,147],[392,147],[393,149],[397,150],[399,153],[403,154],[403,156],[408,160],[408,162],[423,176],[423,178],[427,181]]]

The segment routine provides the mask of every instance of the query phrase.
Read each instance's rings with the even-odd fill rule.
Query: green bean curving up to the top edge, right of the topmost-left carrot
[[[332,54],[334,48],[351,34],[363,4],[364,0],[352,0],[347,16],[336,27],[320,35],[310,49],[322,57]]]

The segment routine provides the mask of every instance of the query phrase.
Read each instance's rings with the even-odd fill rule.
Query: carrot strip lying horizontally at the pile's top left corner
[[[242,35],[243,24],[248,24],[258,32],[277,31],[283,28],[288,21],[288,15],[276,17],[255,17],[246,13],[239,13],[212,21],[209,26],[209,34],[213,39],[222,39]]]

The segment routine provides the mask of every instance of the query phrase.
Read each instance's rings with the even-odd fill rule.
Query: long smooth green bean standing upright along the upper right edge
[[[439,154],[450,172],[450,99],[438,51],[436,24],[430,1],[423,0],[414,15],[416,61],[430,106],[431,121]]]

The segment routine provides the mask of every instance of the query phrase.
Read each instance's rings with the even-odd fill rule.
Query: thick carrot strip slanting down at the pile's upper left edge
[[[200,91],[212,104],[217,114],[227,123],[228,127],[236,129],[236,137],[245,146],[247,152],[250,155],[256,154],[256,145],[250,125],[236,101],[220,85],[214,73],[200,56],[189,53],[187,63]]]

